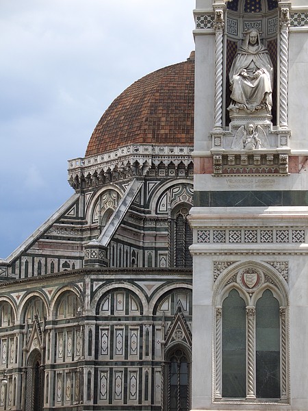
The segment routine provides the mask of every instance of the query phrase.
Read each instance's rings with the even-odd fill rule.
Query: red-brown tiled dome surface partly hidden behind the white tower
[[[193,145],[194,55],[148,74],[123,91],[105,111],[86,156],[131,143]]]

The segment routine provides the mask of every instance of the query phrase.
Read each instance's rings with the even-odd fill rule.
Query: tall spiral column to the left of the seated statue
[[[223,10],[215,10],[215,99],[214,127],[222,128],[222,40],[223,40]]]

